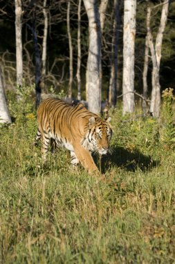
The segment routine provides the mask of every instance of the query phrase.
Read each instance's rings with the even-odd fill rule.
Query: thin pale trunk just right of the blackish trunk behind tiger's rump
[[[41,87],[44,90],[44,79],[46,77],[46,56],[47,56],[47,35],[48,35],[48,12],[46,10],[47,0],[43,3],[43,14],[44,14],[44,36],[42,42],[42,78]]]

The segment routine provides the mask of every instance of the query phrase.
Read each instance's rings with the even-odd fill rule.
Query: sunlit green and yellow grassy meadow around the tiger
[[[0,129],[0,263],[174,263],[172,93],[160,119],[111,111],[99,178],[73,169],[65,149],[42,163],[28,91],[7,95],[13,122]]]

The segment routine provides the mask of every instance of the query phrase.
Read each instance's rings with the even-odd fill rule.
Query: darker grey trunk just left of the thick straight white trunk
[[[109,81],[109,106],[116,107],[117,102],[117,72],[118,72],[118,40],[120,28],[120,0],[113,1],[114,18],[113,18],[113,38],[111,49],[111,75]]]

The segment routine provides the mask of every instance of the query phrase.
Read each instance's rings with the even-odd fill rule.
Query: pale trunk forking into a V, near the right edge
[[[169,8],[169,0],[163,1],[163,8],[160,18],[160,25],[158,27],[158,33],[156,36],[156,43],[154,45],[153,36],[150,28],[150,19],[151,19],[151,6],[147,0],[147,35],[149,42],[149,49],[151,51],[151,60],[152,60],[152,91],[151,91],[151,104],[150,104],[150,113],[154,117],[158,117],[160,114],[160,60],[161,60],[161,50],[163,43],[163,33],[165,31],[165,26],[167,24],[167,14]]]

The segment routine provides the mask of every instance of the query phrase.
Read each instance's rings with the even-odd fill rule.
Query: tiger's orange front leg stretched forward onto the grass
[[[80,160],[80,163],[89,172],[89,174],[92,174],[93,172],[95,172],[95,174],[100,175],[98,167],[95,165],[93,158],[88,150],[86,150],[80,144],[75,145],[74,150],[75,150],[75,155],[77,157],[77,160]]]

